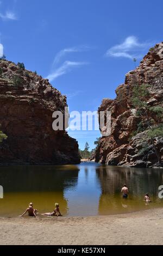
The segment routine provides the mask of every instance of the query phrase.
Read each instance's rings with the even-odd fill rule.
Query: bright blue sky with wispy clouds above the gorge
[[[162,0],[0,0],[0,53],[48,77],[70,111],[95,111],[162,40]],[[84,148],[98,131],[69,131]]]

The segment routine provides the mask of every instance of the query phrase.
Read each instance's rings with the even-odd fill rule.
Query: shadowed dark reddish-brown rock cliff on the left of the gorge
[[[66,97],[48,80],[0,60],[0,164],[79,163],[78,143],[54,131],[54,111],[64,113]]]

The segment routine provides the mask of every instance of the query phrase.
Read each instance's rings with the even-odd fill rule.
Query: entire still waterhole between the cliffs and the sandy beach
[[[122,199],[121,188],[129,187]],[[0,217],[21,215],[30,202],[40,213],[60,204],[64,216],[122,214],[163,207],[158,187],[163,185],[162,169],[122,168],[81,163],[67,166],[0,167]],[[143,202],[149,192],[152,203]]]

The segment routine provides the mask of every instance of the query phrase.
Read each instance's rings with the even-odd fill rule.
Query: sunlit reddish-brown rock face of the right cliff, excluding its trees
[[[131,97],[133,87],[150,84],[150,106],[163,106],[163,42],[151,48],[139,67],[126,75],[124,84],[116,89],[116,99],[104,99],[98,111],[111,111],[111,135],[102,137],[96,150],[95,160],[104,164],[151,167],[156,162],[153,148],[146,148],[145,133],[133,136],[140,118],[135,115]],[[157,140],[159,142],[157,142]],[[156,147],[163,154],[162,139],[155,141]]]

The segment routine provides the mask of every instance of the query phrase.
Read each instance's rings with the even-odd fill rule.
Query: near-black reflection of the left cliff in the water
[[[10,166],[0,167],[0,185],[5,192],[64,191],[75,186],[78,166]],[[76,178],[76,179],[74,179]]]

